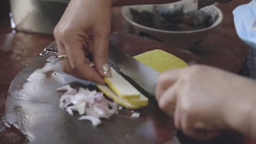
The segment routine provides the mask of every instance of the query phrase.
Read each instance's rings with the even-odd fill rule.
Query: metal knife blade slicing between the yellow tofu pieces
[[[155,88],[158,80],[158,71],[148,67],[148,65],[137,61],[127,53],[109,45],[109,60],[120,68],[120,72],[129,76],[144,91],[152,97],[155,96]]]

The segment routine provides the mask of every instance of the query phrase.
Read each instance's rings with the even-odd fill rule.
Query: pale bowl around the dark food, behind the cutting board
[[[122,7],[121,11],[124,18],[130,23],[130,25],[135,30],[137,35],[142,37],[150,37],[161,42],[171,44],[174,46],[181,47],[182,49],[189,49],[191,44],[200,43],[203,39],[210,34],[214,28],[216,28],[223,20],[222,11],[215,5],[210,5],[208,7],[202,8],[201,10],[207,14],[211,15],[211,19],[214,19],[211,26],[202,29],[196,29],[193,31],[167,31],[162,29],[150,28],[147,26],[140,25],[133,21],[130,9],[135,9],[138,11],[148,11],[152,12],[153,8],[156,6],[164,8],[173,8],[174,5],[182,4],[184,7],[184,12],[195,10],[196,5],[191,0],[170,3],[170,4],[149,4],[149,5],[131,5]]]

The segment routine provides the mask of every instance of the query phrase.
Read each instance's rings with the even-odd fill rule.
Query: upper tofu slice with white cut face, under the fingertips
[[[106,77],[104,81],[119,97],[124,99],[137,99],[141,94],[135,87],[119,75],[113,68],[111,69],[112,77]]]

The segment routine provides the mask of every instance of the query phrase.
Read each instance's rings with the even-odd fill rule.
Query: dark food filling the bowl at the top
[[[210,27],[217,17],[203,10],[192,10],[184,12],[181,4],[173,8],[164,8],[154,5],[153,11],[138,11],[130,9],[133,21],[139,25],[167,31],[193,31]]]

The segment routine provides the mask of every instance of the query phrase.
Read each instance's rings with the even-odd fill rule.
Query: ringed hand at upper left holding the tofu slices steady
[[[108,67],[108,36],[110,32],[111,0],[72,0],[54,30],[63,71],[80,79],[104,84],[111,77]],[[93,52],[95,69],[89,67],[84,43]]]

